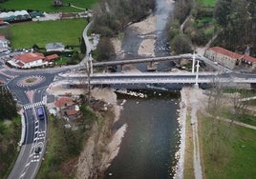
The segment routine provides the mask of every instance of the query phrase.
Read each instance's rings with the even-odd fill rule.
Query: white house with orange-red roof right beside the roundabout
[[[9,62],[11,66],[20,68],[20,69],[30,69],[34,67],[44,66],[47,63],[44,62],[44,54],[43,53],[24,53],[15,55]]]

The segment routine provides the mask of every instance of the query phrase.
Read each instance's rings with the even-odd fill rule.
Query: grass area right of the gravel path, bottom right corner
[[[201,141],[205,178],[254,178],[256,176],[256,130],[220,122],[213,137],[209,118],[202,117]],[[212,158],[212,147],[215,159]]]

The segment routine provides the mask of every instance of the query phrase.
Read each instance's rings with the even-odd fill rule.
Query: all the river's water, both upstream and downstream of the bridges
[[[166,50],[166,23],[173,9],[170,0],[156,1],[153,12],[157,15],[156,56],[169,55]],[[126,58],[138,56],[141,39],[133,30],[126,30],[122,50]],[[137,67],[139,70],[145,68]],[[164,70],[166,64],[160,64]],[[136,88],[138,89],[138,88]],[[176,164],[175,152],[179,146],[178,112],[179,92],[165,90],[143,90],[147,98],[118,95],[119,103],[126,100],[120,119],[114,126],[123,124],[128,128],[122,139],[117,157],[105,172],[105,178],[116,179],[167,179],[172,178]]]

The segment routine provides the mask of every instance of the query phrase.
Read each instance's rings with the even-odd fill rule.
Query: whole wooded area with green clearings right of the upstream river
[[[173,52],[190,52],[195,46],[205,46],[216,36],[211,46],[256,56],[256,2],[254,0],[177,0],[169,23],[169,41]],[[179,49],[182,43],[183,49]]]

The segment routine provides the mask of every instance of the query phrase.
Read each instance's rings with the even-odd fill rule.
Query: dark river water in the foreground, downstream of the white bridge
[[[173,177],[179,141],[179,92],[149,91],[147,95],[147,98],[118,96],[120,102],[125,99],[126,103],[115,128],[123,124],[128,128],[106,178]]]

